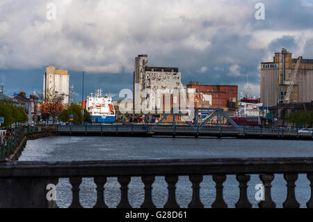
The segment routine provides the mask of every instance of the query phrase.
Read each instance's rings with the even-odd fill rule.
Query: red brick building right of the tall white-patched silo
[[[211,95],[211,106],[234,110],[237,106],[238,86],[235,85],[205,85],[198,81],[189,81],[186,88],[195,88],[195,93]]]

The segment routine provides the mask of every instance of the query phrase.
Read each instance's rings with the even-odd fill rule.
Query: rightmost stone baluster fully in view
[[[282,203],[284,208],[299,208],[300,204],[296,200],[295,187],[298,173],[285,173],[284,180],[287,181],[287,198]]]

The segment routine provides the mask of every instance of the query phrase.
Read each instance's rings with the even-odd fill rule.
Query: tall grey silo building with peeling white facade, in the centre
[[[184,89],[178,68],[149,67],[147,55],[138,55],[135,58],[133,95],[135,113],[140,113],[142,109],[150,109],[150,106],[160,106],[164,104],[164,100],[172,100],[172,92],[175,89]],[[167,91],[165,97],[158,94],[160,90]]]

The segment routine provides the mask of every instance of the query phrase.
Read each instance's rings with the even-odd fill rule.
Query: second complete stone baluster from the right
[[[273,202],[271,197],[271,182],[274,180],[273,174],[261,174],[259,179],[264,184],[264,200],[259,202],[260,208],[275,208],[276,204]]]

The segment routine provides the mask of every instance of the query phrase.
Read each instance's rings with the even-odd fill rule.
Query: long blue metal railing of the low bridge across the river
[[[301,133],[299,129],[197,126],[191,125],[58,125],[61,135],[124,135],[124,136],[217,136],[238,138],[313,139],[313,132]]]

